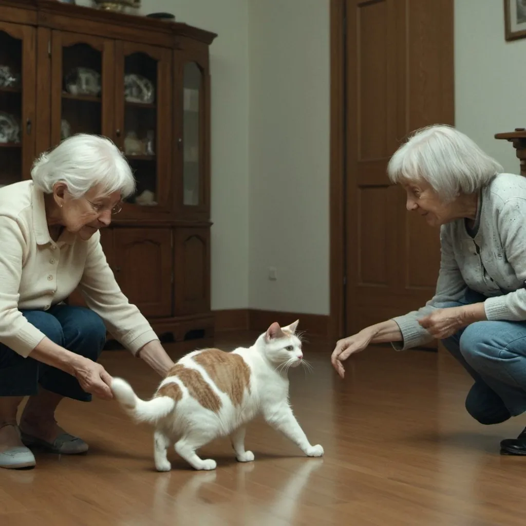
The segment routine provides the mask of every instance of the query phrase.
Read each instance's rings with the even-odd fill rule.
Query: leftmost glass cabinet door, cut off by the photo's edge
[[[0,186],[30,176],[35,139],[35,31],[0,22]]]

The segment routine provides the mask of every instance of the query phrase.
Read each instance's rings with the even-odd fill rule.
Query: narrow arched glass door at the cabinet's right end
[[[186,43],[174,52],[174,197],[179,216],[210,215],[210,73],[208,47]]]

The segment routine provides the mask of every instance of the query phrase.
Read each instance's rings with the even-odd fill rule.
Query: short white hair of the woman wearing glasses
[[[106,137],[76,134],[35,160],[31,177],[45,194],[53,193],[56,183],[65,183],[74,199],[100,185],[100,195],[120,191],[129,197],[135,179],[124,155]]]

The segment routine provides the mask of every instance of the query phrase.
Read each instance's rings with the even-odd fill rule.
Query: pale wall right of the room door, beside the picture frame
[[[495,133],[526,126],[526,39],[504,40],[503,3],[455,1],[456,125],[504,169],[519,173],[515,149]]]

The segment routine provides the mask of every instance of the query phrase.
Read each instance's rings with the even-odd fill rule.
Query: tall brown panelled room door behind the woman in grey
[[[387,163],[416,128],[453,124],[452,0],[347,0],[347,327],[434,293],[439,231],[406,211]]]

